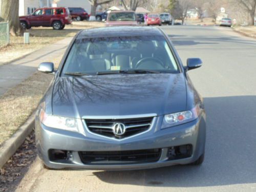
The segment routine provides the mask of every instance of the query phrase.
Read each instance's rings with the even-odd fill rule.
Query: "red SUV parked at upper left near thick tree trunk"
[[[69,10],[63,7],[36,9],[31,15],[20,16],[20,24],[24,29],[31,27],[52,27],[55,30],[65,28],[72,23]]]

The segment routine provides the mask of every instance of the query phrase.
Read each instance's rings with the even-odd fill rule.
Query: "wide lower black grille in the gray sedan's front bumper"
[[[79,152],[84,164],[133,164],[156,162],[161,156],[161,149],[108,152]]]

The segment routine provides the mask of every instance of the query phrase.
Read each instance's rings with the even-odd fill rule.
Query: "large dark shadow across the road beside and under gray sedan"
[[[94,172],[103,182],[162,187],[255,183],[256,96],[205,98],[206,157],[201,166]]]

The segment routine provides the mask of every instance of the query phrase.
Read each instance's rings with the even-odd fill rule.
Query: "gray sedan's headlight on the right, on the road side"
[[[198,118],[199,113],[200,106],[196,105],[195,108],[190,111],[167,114],[163,117],[161,129],[193,121]]]

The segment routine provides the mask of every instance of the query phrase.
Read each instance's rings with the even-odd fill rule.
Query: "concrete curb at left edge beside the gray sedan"
[[[28,120],[19,127],[10,139],[0,148],[0,168],[10,159],[10,157],[17,151],[18,147],[22,145],[26,137],[32,132],[35,122],[35,113],[33,113]]]

